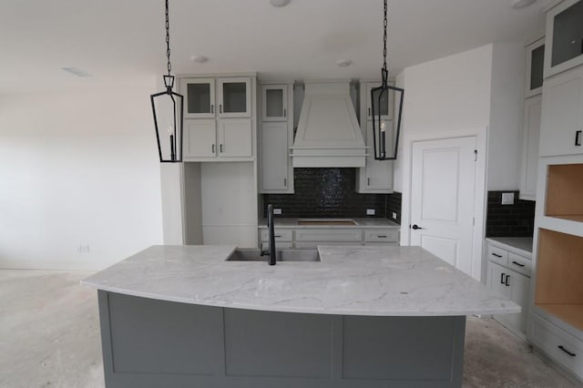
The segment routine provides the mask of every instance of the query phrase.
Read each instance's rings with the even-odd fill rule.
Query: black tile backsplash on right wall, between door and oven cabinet
[[[514,192],[514,205],[502,205],[502,193]],[[518,191],[488,191],[486,237],[532,237],[535,202],[518,199]]]

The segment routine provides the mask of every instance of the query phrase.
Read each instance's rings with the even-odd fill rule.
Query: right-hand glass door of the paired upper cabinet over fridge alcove
[[[251,117],[251,78],[217,78],[218,117]]]

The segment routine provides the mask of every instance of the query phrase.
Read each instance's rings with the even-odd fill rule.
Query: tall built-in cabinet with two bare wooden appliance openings
[[[547,13],[528,339],[583,380],[583,0]],[[573,43],[575,42],[575,43]]]

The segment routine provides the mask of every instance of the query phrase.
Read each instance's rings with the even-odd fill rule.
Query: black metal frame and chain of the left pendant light
[[[170,75],[172,70],[172,65],[170,64],[170,34],[169,34],[169,0],[166,0],[166,56],[168,58],[168,75],[164,77],[164,86],[166,90],[159,92],[150,96],[150,101],[152,103],[152,113],[154,114],[154,127],[156,128],[156,140],[158,142],[158,154],[161,163],[179,163],[182,161],[182,123],[183,123],[183,111],[184,111],[184,97],[174,92],[174,79],[175,77]],[[169,98],[172,101],[172,117],[173,126],[172,131],[169,133],[169,158],[164,158],[162,156],[162,146],[160,144],[159,135],[159,122],[158,116],[156,114],[156,103],[162,98]],[[177,143],[179,148],[176,148]]]

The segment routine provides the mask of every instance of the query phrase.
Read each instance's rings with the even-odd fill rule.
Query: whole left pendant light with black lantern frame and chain
[[[160,162],[182,161],[182,111],[184,97],[174,92],[174,76],[170,75],[169,6],[166,0],[166,56],[168,76],[164,76],[166,90],[150,96]],[[160,130],[162,133],[160,133]],[[177,147],[178,145],[178,147]]]

